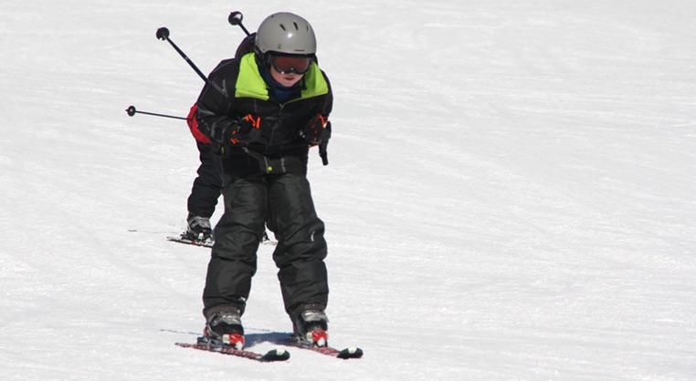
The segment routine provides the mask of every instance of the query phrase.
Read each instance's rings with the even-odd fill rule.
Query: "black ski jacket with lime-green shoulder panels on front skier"
[[[307,173],[309,145],[301,130],[317,114],[328,118],[332,90],[315,63],[301,79],[293,97],[280,103],[261,77],[255,53],[220,62],[209,76],[212,83],[198,97],[198,129],[222,153],[223,170],[233,176]],[[231,145],[227,129],[247,115],[260,118],[256,139]]]

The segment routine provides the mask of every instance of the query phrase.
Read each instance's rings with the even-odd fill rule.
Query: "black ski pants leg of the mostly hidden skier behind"
[[[210,218],[215,212],[217,199],[222,191],[222,173],[220,158],[213,153],[211,144],[195,142],[200,153],[201,165],[198,167],[198,177],[191,187],[188,196],[188,212],[195,216]]]

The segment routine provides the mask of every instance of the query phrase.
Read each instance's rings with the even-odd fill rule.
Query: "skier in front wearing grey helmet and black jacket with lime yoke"
[[[203,293],[206,336],[243,347],[241,316],[268,222],[293,330],[327,345],[327,247],[306,174],[310,147],[330,138],[332,90],[317,65],[314,31],[301,16],[269,15],[254,50],[237,49],[237,57],[220,62],[197,102],[198,127],[222,153],[225,200]]]

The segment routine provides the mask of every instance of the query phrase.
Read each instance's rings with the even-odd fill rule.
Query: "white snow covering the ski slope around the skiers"
[[[185,226],[204,72],[292,11],[335,108],[311,154],[330,343],[186,350],[209,251]],[[4,0],[3,379],[693,379],[696,3]],[[219,218],[218,209],[215,218]],[[244,323],[290,332],[272,247]]]

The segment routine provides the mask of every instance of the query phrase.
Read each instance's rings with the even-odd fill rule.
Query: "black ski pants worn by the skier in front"
[[[223,176],[225,214],[215,228],[203,293],[204,314],[227,308],[244,312],[257,270],[257,250],[268,222],[278,246],[273,261],[285,310],[328,302],[324,224],[317,217],[310,183],[301,173]]]

